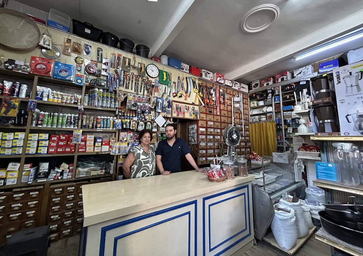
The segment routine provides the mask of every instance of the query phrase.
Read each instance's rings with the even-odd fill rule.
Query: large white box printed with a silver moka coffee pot
[[[342,135],[363,135],[363,61],[333,69]]]

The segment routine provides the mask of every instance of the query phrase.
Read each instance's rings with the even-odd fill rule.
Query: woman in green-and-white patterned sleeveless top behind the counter
[[[122,164],[126,179],[155,175],[155,152],[154,147],[149,145],[150,141],[152,141],[151,131],[147,129],[140,131],[140,144],[131,149]]]

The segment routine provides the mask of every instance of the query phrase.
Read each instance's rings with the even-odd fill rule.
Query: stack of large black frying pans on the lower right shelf
[[[363,204],[325,204],[325,207],[325,211],[319,211],[325,230],[340,240],[361,247]]]

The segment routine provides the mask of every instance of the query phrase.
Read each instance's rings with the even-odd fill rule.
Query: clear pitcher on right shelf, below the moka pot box
[[[358,158],[353,143],[334,142],[333,146],[337,148],[334,150],[334,163],[338,182],[358,185],[360,183],[356,166]]]

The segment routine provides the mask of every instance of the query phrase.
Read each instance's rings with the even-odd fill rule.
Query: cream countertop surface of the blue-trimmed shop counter
[[[83,226],[192,198],[253,179],[253,175],[235,176],[233,180],[225,179],[223,182],[214,183],[210,182],[203,172],[184,171],[170,175],[83,185]]]

